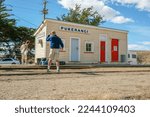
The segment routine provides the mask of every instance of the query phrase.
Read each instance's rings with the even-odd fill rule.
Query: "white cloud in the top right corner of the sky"
[[[135,5],[135,7],[139,10],[145,10],[150,12],[150,0],[111,0],[111,1],[113,3],[117,2],[125,5]]]

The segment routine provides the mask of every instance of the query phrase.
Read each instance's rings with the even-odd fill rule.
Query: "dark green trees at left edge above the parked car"
[[[11,9],[7,9],[4,2],[5,0],[0,0],[0,42],[5,42],[9,46],[11,41],[16,49],[23,41],[30,40],[30,48],[33,48],[35,29],[16,27],[16,20],[11,19],[12,14],[8,13]]]

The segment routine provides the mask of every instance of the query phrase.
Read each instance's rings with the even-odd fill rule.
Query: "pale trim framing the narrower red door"
[[[102,37],[106,37],[106,38],[101,38],[101,36]],[[107,34],[100,34],[100,36],[99,36],[99,61],[100,61],[100,57],[101,57],[101,55],[100,55],[100,51],[101,51],[101,47],[100,47],[100,42],[101,41],[105,41],[105,49],[106,49],[106,51],[105,51],[105,62],[110,62],[109,61],[109,59],[108,59],[108,36],[107,36]],[[101,61],[100,61],[101,62]]]

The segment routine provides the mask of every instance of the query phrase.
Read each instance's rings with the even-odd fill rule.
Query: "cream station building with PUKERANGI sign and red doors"
[[[35,32],[35,63],[48,58],[47,35],[55,30],[64,43],[60,61],[66,63],[127,63],[128,31],[45,19]]]

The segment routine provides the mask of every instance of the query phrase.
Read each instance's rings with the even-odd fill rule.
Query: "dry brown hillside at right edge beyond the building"
[[[150,64],[150,51],[136,51],[139,64]]]

